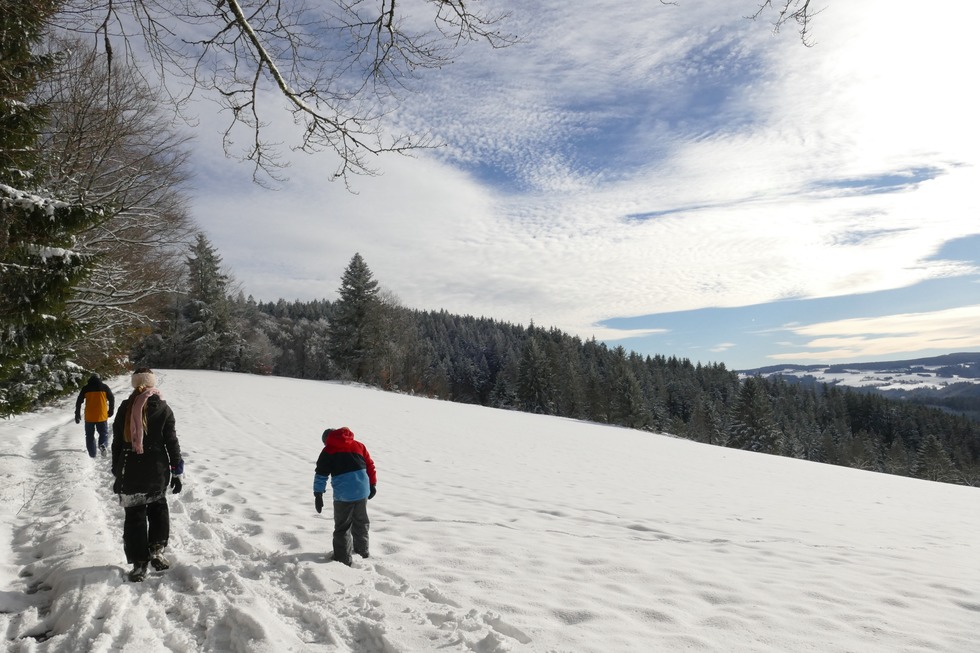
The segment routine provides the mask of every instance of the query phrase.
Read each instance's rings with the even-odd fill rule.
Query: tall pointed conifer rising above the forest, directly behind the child
[[[340,280],[330,318],[330,358],[355,381],[372,376],[373,354],[380,345],[380,289],[361,255],[354,254]]]

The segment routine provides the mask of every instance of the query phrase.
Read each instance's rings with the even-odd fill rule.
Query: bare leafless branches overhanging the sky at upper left
[[[174,103],[198,90],[228,112],[225,152],[275,180],[281,144],[267,140],[286,101],[293,147],[333,152],[335,177],[374,174],[371,159],[430,147],[421,134],[387,134],[385,118],[420,71],[443,66],[464,42],[515,41],[484,0],[66,0],[59,25],[145,53]],[[426,21],[425,18],[428,18]],[[431,28],[426,29],[428,22]],[[119,51],[120,48],[115,48]],[[248,140],[238,142],[244,130]]]

